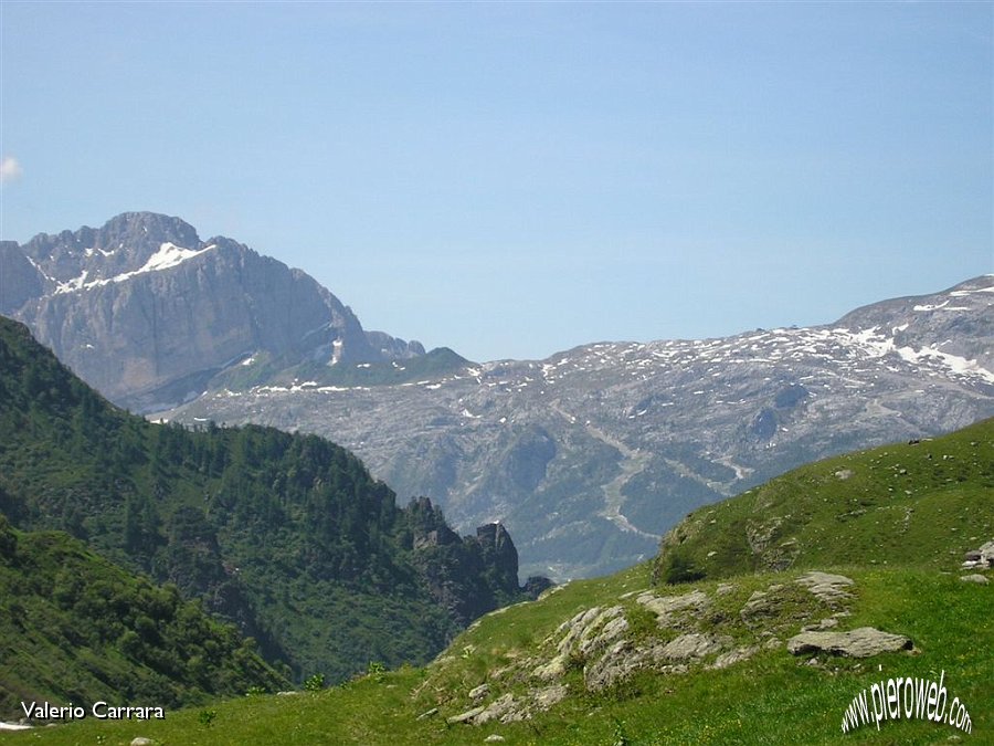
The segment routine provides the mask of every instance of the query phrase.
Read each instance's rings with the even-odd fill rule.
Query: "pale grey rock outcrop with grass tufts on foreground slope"
[[[910,649],[909,638],[871,628],[828,631],[848,617],[855,588],[852,578],[812,571],[751,591],[720,584],[713,590],[626,592],[612,606],[578,610],[542,641],[539,655],[515,656],[510,665],[490,671],[464,698],[450,703],[456,714],[448,723],[527,719],[575,687],[568,683],[575,681],[571,671],[582,672],[585,691],[599,692],[641,671],[680,676],[784,649],[854,658]],[[451,664],[453,659],[438,659],[432,675],[445,676]]]

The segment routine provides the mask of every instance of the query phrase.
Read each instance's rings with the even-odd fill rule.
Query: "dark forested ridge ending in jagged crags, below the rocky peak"
[[[461,538],[431,502],[395,503],[315,435],[189,432],[116,409],[0,318],[0,512],[175,582],[295,676],[424,661],[525,598],[501,526]]]

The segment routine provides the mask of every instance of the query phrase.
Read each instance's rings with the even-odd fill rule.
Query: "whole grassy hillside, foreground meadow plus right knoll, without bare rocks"
[[[963,551],[994,538],[991,445],[991,423],[984,422],[948,438],[797,470],[705,508],[676,529],[688,560],[677,569],[705,567],[713,578],[666,585],[658,577],[668,566],[646,563],[571,582],[539,601],[484,617],[424,669],[373,671],[325,692],[233,700],[208,713],[179,711],[161,723],[89,719],[18,734],[11,743],[103,737],[102,743],[124,744],[144,735],[161,744],[479,744],[494,734],[508,744],[994,743],[994,584],[960,579]],[[845,469],[853,473],[838,476]],[[758,496],[764,502],[758,504]],[[769,530],[763,522],[773,518],[780,521]],[[723,544],[722,525],[745,538],[732,534]],[[792,539],[801,546],[790,550],[791,566],[770,569],[785,564],[783,544]],[[741,557],[729,546],[738,546]],[[800,585],[813,567],[850,578],[847,596],[825,600]],[[688,599],[697,603],[683,603]],[[664,623],[651,602],[677,610]],[[582,644],[596,641],[607,626],[584,629],[577,620],[604,613],[625,620],[622,637]],[[913,650],[868,659],[789,652],[787,640],[826,619],[837,630],[875,627],[906,635]],[[627,645],[617,658],[625,661],[679,638],[723,647],[683,662],[663,656],[607,685],[592,684],[616,641]],[[722,663],[720,656],[734,651],[748,654]],[[539,676],[560,652],[561,672]],[[972,733],[921,718],[842,732],[854,697],[907,676],[937,683],[942,677],[947,702],[956,697],[965,705]],[[484,683],[489,691],[474,701],[470,691]],[[558,687],[552,698],[563,695],[561,701],[541,706],[541,696]],[[504,697],[527,703],[530,717],[482,725],[450,721]]]

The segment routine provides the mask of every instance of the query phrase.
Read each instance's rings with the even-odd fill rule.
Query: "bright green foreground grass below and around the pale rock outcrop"
[[[750,577],[742,591],[791,576]],[[614,601],[649,582],[641,566],[604,580],[570,584],[544,601],[491,614],[453,644],[457,664],[373,674],[321,693],[242,697],[167,713],[162,722],[110,723],[92,717],[57,728],[12,734],[12,744],[480,744],[499,734],[508,744],[934,744],[960,736],[991,743],[994,704],[986,623],[992,589],[927,570],[852,572],[860,591],[848,626],[871,624],[912,638],[917,653],[886,653],[864,661],[819,656],[807,665],[782,648],[723,670],[686,675],[642,673],[605,692],[575,692],[529,721],[483,726],[450,725],[470,705],[467,692],[509,660],[537,651],[575,610]],[[716,582],[701,584],[713,590]],[[938,682],[944,671],[949,698],[966,704],[973,733],[921,719],[840,732],[846,707],[861,690],[887,677]],[[575,674],[574,674],[575,676]],[[491,680],[493,683],[493,680]],[[575,683],[575,682],[571,682]],[[527,686],[527,682],[517,685]],[[511,685],[514,687],[514,684]],[[419,715],[438,707],[423,719]]]

